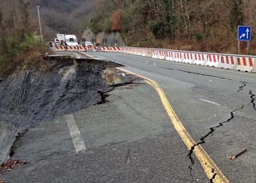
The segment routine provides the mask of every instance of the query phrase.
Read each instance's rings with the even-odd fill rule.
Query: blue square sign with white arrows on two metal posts
[[[247,54],[249,55],[249,41],[251,41],[251,26],[238,26],[237,40],[238,54],[240,53],[240,41],[247,41]]]

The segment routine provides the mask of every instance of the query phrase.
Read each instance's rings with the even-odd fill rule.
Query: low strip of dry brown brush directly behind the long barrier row
[[[250,55],[256,55],[256,51],[252,48],[252,45],[256,44],[256,40],[253,39],[254,36],[253,34],[251,35]],[[141,36],[137,35],[132,40],[137,40],[139,37]],[[237,32],[230,32],[230,29],[226,26],[206,30],[206,33],[202,34],[202,37],[203,39],[201,41],[196,41],[195,35],[193,35],[192,39],[181,38],[177,35],[175,40],[157,40],[153,38],[152,34],[148,34],[146,41],[141,40],[137,44],[140,47],[147,48],[237,54]],[[135,44],[133,46],[135,46]],[[241,41],[240,47],[240,53],[246,55],[247,42]]]

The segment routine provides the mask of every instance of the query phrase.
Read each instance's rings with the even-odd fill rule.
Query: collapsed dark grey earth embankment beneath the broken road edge
[[[48,57],[48,72],[21,71],[0,82],[0,164],[17,131],[101,102],[112,62]]]

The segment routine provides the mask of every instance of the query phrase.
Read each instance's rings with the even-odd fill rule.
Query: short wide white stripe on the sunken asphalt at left
[[[86,151],[83,137],[77,127],[77,124],[75,123],[74,116],[70,114],[70,115],[66,115],[65,118],[66,118],[66,122],[68,123],[68,128],[70,129],[70,135],[73,140],[75,151],[77,151],[77,154],[80,152]]]

